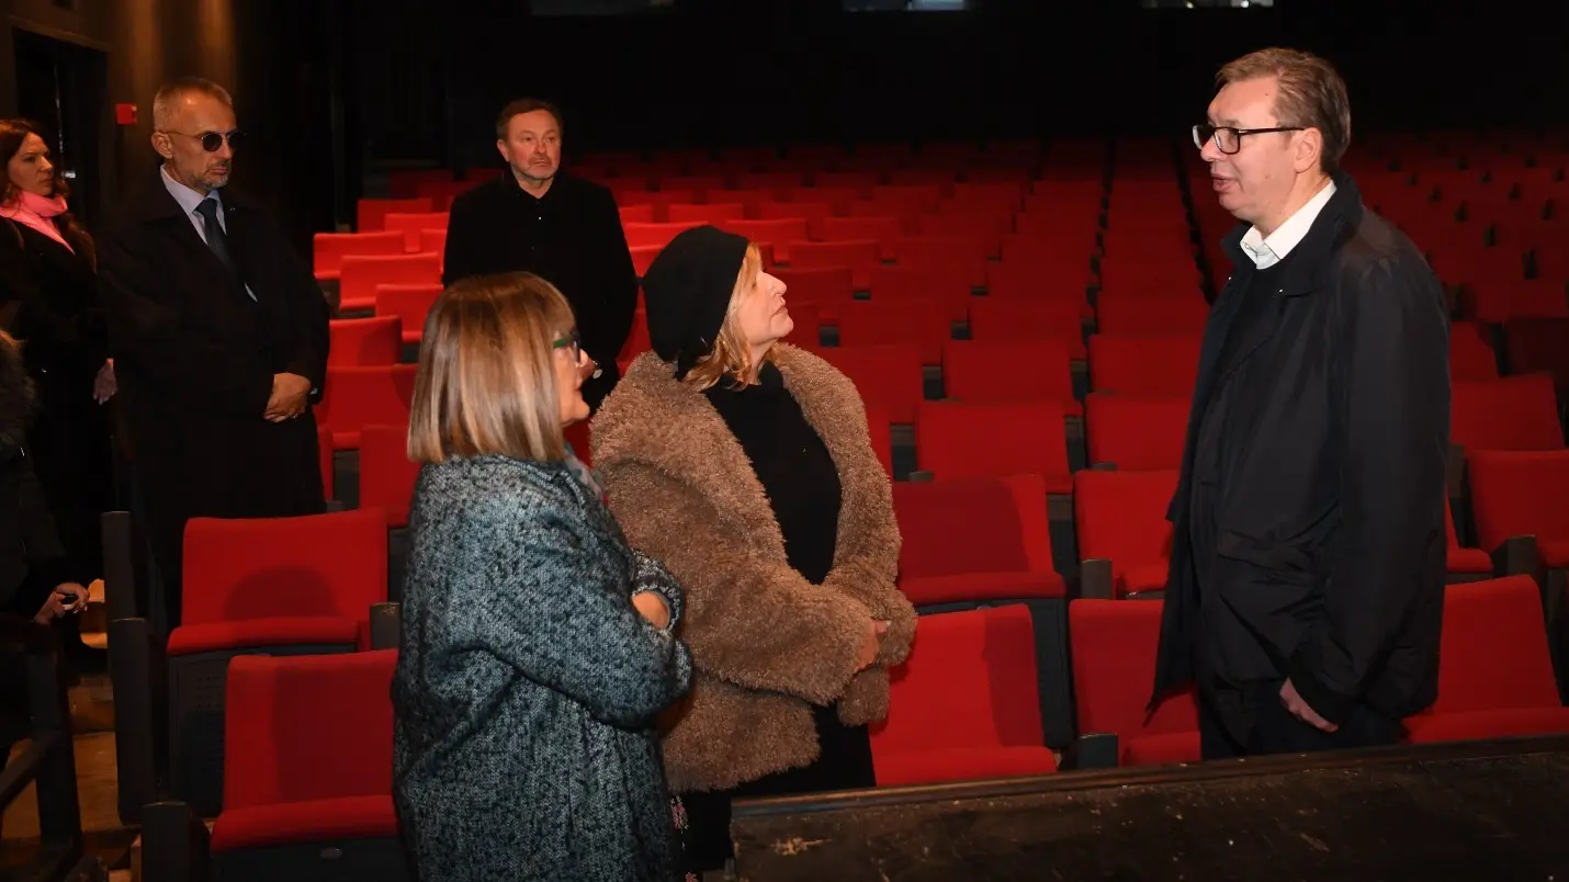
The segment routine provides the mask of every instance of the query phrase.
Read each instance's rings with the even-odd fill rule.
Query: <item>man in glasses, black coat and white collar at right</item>
[[[1437,697],[1448,319],[1338,162],[1345,83],[1227,64],[1194,141],[1243,223],[1205,330],[1156,700],[1197,681],[1205,758],[1393,744]]]

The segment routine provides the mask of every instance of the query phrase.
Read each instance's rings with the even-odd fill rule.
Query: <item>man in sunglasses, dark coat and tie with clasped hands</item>
[[[323,510],[315,417],[328,306],[278,223],[226,190],[242,133],[217,83],[154,100],[163,157],[99,237],[110,350],[168,623],[196,516]]]

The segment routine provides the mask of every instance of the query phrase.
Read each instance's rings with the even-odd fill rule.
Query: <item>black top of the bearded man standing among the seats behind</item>
[[[537,199],[508,171],[453,199],[442,284],[515,272],[560,289],[588,356],[615,369],[637,311],[637,272],[609,190],[559,173]]]

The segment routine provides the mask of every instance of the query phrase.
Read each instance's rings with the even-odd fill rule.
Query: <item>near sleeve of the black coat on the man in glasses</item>
[[[1332,364],[1340,446],[1338,549],[1324,617],[1290,659],[1298,694],[1329,722],[1354,708],[1407,612],[1443,590],[1450,341],[1443,292],[1415,256],[1385,257],[1338,292]]]

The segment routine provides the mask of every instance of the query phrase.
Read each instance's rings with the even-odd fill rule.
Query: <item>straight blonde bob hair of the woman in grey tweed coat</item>
[[[425,317],[408,457],[563,460],[554,350],[573,328],[566,298],[533,273],[477,276],[441,292]]]

